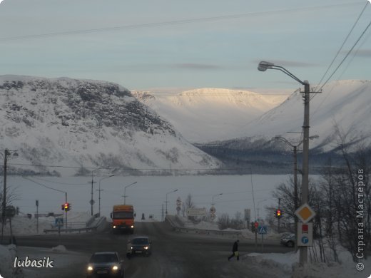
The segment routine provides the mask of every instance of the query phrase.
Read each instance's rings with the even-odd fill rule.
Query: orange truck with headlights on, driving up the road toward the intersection
[[[111,212],[112,230],[126,230],[131,234],[134,232],[134,208],[132,205],[113,205]]]

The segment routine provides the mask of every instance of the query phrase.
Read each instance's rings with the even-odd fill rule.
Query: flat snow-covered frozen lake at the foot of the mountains
[[[94,177],[93,184],[93,213],[98,212],[98,187],[101,184],[101,215],[110,217],[112,206],[123,203],[124,187],[126,188],[126,204],[132,204],[136,210],[136,217],[140,219],[142,213],[154,215],[161,220],[162,208],[166,207],[166,193],[168,194],[168,213],[176,214],[176,199],[184,201],[188,194],[193,197],[196,207],[211,207],[214,197],[216,216],[228,213],[234,216],[235,212],[251,210],[251,220],[255,219],[253,210],[252,183],[255,195],[255,207],[260,202],[259,216],[265,217],[265,206],[276,205],[277,200],[272,197],[272,190],[280,183],[287,182],[290,175],[206,175],[206,176],[113,176],[105,178]],[[91,177],[27,177],[8,176],[8,190],[15,190],[16,200],[11,205],[19,207],[21,212],[36,212],[36,200],[39,200],[39,213],[60,213],[61,205],[67,192],[68,202],[74,212],[91,212]],[[36,183],[37,182],[37,183]],[[52,187],[59,192],[47,187]],[[267,199],[266,201],[263,201]],[[256,213],[258,213],[256,211]]]

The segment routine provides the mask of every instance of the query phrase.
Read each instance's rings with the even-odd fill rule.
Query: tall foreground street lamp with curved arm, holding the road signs
[[[304,123],[303,123],[303,178],[302,178],[302,205],[308,202],[308,183],[309,183],[309,93],[310,86],[308,81],[301,81],[299,78],[290,73],[283,66],[276,66],[274,63],[261,61],[258,66],[259,71],[266,71],[268,69],[275,69],[282,71],[291,78],[298,81],[304,86]],[[300,248],[300,264],[308,262],[308,247]]]

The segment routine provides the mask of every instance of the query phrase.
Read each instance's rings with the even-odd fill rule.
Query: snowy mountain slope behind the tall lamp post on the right
[[[267,140],[275,135],[298,138],[298,134],[287,132],[300,132],[302,129],[302,96],[302,93],[293,93],[287,101],[249,123],[245,136]],[[335,81],[327,84],[322,93],[316,93],[310,101],[310,135],[320,136],[311,140],[311,147],[322,150],[336,148],[335,125],[347,134],[347,139],[365,139],[370,143],[370,103],[371,81]]]

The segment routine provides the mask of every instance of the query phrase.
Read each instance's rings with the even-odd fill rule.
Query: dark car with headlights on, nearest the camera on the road
[[[96,252],[88,263],[87,277],[123,278],[123,260],[117,252]]]

